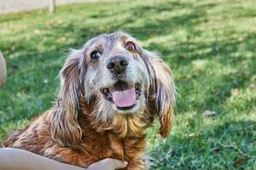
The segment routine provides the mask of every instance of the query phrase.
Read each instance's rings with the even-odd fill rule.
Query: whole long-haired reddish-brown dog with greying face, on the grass
[[[146,129],[156,117],[166,138],[174,118],[176,87],[164,61],[115,31],[72,50],[60,78],[55,105],[3,146],[79,167],[111,157],[148,169]]]

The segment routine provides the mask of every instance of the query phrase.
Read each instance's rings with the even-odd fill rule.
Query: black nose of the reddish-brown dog
[[[107,61],[107,68],[109,71],[120,74],[123,73],[128,65],[128,60],[124,56],[113,56]]]

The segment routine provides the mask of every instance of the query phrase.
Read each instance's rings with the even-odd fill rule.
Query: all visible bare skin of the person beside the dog
[[[6,80],[6,65],[3,55],[0,52],[0,87]],[[126,167],[126,161],[119,161],[111,158],[97,161],[90,165],[87,170],[114,170]],[[82,167],[75,167],[59,161],[50,160],[44,156],[38,156],[26,150],[14,148],[0,148],[0,169],[1,170],[84,170]]]

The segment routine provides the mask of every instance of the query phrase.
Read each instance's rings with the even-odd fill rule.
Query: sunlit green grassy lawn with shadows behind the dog
[[[0,143],[49,109],[63,56],[90,37],[128,31],[159,51],[179,96],[172,135],[149,129],[152,169],[256,169],[256,1],[116,1],[0,15],[8,82]],[[215,111],[205,116],[204,111]]]

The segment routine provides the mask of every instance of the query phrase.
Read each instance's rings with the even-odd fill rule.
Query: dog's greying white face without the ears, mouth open
[[[84,94],[96,98],[98,118],[145,108],[150,82],[135,38],[122,32],[95,37],[85,44],[84,58]]]

